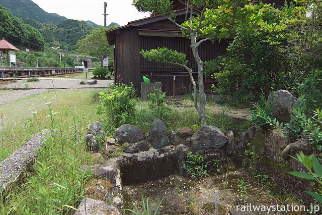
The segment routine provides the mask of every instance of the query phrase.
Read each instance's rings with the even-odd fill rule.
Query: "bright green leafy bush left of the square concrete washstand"
[[[135,89],[133,83],[116,85],[112,90],[99,92],[101,103],[96,107],[99,115],[106,117],[108,128],[114,130],[122,124],[131,124],[135,118]]]

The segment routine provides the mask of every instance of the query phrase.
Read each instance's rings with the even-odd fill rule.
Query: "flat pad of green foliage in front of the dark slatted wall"
[[[155,60],[161,63],[179,63],[186,65],[188,60],[186,60],[186,54],[178,53],[177,51],[168,48],[158,48],[152,50],[142,50],[140,52],[144,58],[148,60]]]

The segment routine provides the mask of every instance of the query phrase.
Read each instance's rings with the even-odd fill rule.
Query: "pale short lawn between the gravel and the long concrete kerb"
[[[67,121],[66,117],[63,117],[66,114],[79,116],[81,118],[80,133],[83,134],[87,123],[98,120],[95,111],[96,92],[90,90],[49,91],[0,105],[0,113],[4,114],[0,119],[0,161],[13,153],[39,130],[48,129],[48,108],[43,100],[44,97],[55,98],[54,111],[63,123]]]

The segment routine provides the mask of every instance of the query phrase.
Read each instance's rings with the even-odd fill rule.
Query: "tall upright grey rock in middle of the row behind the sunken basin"
[[[169,145],[165,124],[160,119],[153,121],[148,141],[155,149]]]

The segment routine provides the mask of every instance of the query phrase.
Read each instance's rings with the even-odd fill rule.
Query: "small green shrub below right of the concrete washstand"
[[[157,118],[164,121],[171,112],[170,107],[164,101],[165,93],[156,90],[155,93],[149,94],[148,97],[150,99],[149,108]]]

